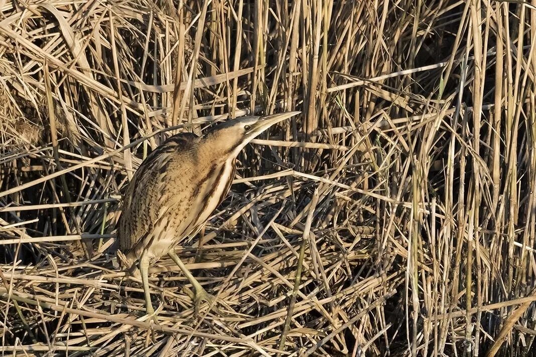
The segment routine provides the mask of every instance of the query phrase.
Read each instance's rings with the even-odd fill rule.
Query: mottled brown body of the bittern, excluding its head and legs
[[[234,178],[235,159],[214,160],[217,151],[198,140],[194,134],[172,136],[148,155],[134,174],[120,221],[124,236],[119,237],[121,252],[131,267],[143,249],[153,261],[197,233],[225,199]],[[217,199],[211,200],[214,196]]]

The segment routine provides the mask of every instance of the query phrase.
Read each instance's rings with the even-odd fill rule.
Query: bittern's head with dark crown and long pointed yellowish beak
[[[252,116],[227,120],[212,127],[203,135],[202,140],[211,150],[236,156],[244,146],[267,128],[299,113],[299,111],[290,111],[264,117]]]

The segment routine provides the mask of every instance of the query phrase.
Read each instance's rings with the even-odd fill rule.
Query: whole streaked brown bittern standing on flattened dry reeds
[[[131,274],[141,275],[147,314],[154,313],[148,267],[164,255],[169,255],[192,284],[196,308],[202,300],[212,300],[174,247],[195,236],[225,199],[242,148],[267,128],[297,113],[227,120],[202,136],[173,135],[139,166],[126,189],[117,236],[120,259]]]

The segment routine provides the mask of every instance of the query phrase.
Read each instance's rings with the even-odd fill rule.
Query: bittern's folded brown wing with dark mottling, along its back
[[[172,136],[156,148],[135,172],[124,196],[118,239],[121,252],[128,252],[144,241],[154,225],[165,215],[161,194],[167,165],[178,152],[187,152],[198,138],[192,133]]]

